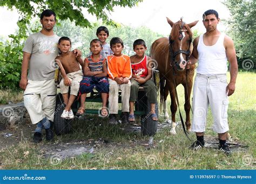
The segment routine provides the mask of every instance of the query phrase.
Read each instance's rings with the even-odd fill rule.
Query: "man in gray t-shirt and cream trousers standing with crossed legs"
[[[55,58],[58,55],[59,37],[53,33],[56,15],[52,10],[44,10],[40,17],[42,30],[31,34],[23,48],[22,74],[19,87],[24,89],[24,105],[32,124],[37,124],[33,141],[42,140],[45,129],[46,140],[53,139],[50,128],[56,104]],[[76,50],[77,57],[80,51]],[[29,70],[29,72],[28,72]]]

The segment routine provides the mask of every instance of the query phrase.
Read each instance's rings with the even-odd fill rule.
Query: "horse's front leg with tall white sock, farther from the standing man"
[[[177,103],[176,103],[176,95],[175,95],[175,88],[173,86],[173,84],[169,85],[169,91],[170,91],[170,96],[171,96],[171,112],[172,112],[172,125],[171,125],[171,130],[170,133],[172,135],[176,134],[176,121],[175,121],[175,115],[176,115],[176,111],[177,111]]]

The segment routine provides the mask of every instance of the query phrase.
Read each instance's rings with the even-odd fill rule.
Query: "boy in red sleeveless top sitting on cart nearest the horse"
[[[155,107],[157,102],[157,87],[151,80],[152,68],[147,63],[151,58],[145,55],[146,43],[142,39],[135,40],[133,43],[133,51],[136,55],[130,57],[131,68],[132,68],[132,78],[131,78],[131,93],[130,93],[130,114],[129,122],[135,121],[134,116],[134,102],[138,98],[139,86],[144,87],[147,93],[147,98],[149,99],[151,105],[151,118],[153,121],[158,121],[156,115]]]

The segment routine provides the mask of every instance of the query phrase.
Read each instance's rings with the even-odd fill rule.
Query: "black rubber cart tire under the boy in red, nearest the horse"
[[[153,121],[150,116],[150,103],[147,101],[146,115],[141,118],[141,132],[143,136],[154,136],[157,132],[158,121]],[[158,117],[158,103],[156,103],[156,115]]]

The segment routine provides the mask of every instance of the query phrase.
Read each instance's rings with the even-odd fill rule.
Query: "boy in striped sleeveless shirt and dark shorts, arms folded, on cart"
[[[81,106],[77,111],[77,115],[83,115],[85,112],[85,99],[87,93],[91,93],[94,87],[102,95],[102,110],[100,110],[100,116],[108,116],[106,108],[107,94],[109,93],[109,80],[107,79],[107,66],[106,59],[100,54],[102,51],[102,43],[98,39],[93,39],[90,43],[90,51],[92,55],[89,55],[84,60],[84,77],[80,82],[81,93]]]

